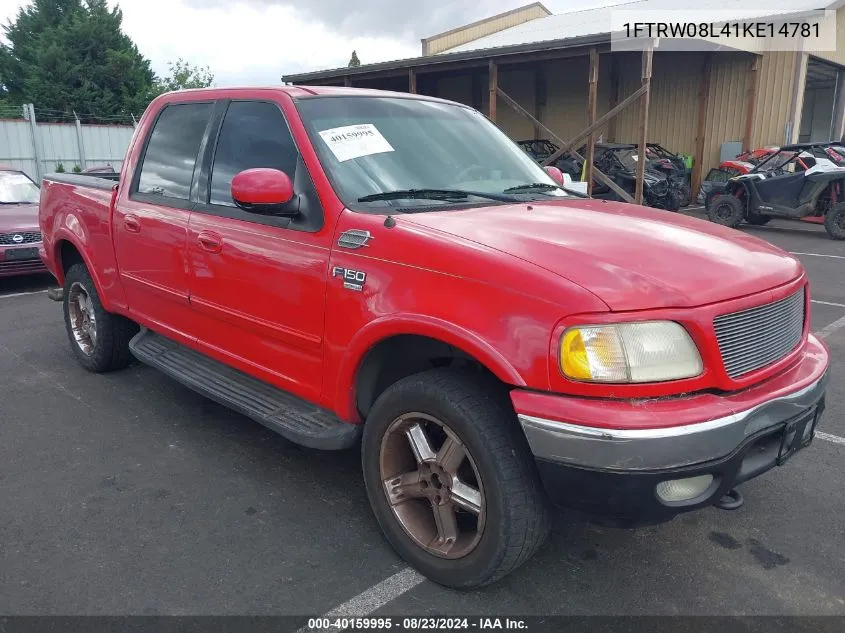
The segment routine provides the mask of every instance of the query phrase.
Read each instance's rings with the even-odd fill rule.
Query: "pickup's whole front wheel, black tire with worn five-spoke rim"
[[[548,502],[513,409],[479,378],[436,369],[389,387],[364,425],[362,461],[387,540],[442,585],[494,582],[548,534]]]

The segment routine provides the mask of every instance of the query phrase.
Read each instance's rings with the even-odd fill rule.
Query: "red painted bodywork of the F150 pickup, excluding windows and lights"
[[[520,411],[572,420],[565,416],[572,403],[584,423],[607,419],[619,426],[652,424],[652,418],[631,412],[632,398],[697,392],[654,405],[672,411],[654,417],[654,425],[682,424],[689,415],[723,414],[724,403],[706,391],[734,394],[736,402],[747,394],[765,401],[785,388],[788,372],[804,375],[826,365],[805,330],[801,346],[779,363],[739,381],[725,374],[713,317],[806,284],[797,259],[738,231],[581,199],[532,202],[531,211],[513,204],[398,214],[392,227],[383,215],[344,209],[292,100],[314,92],[384,94],[283,87],[162,96],[138,125],[121,182],[131,182],[143,140],[164,105],[273,101],[288,119],[317,188],[324,212],[319,231],[139,203],[128,198],[125,184],[112,200],[108,191],[46,182],[40,224],[50,270],[63,280],[62,244],[73,245],[107,309],[349,422],[359,421],[355,383],[362,359],[379,341],[403,334],[454,345],[505,383],[527,388],[514,392]],[[247,184],[256,186],[251,179]],[[369,231],[372,239],[357,250],[338,248],[339,234],[349,229]],[[363,290],[345,289],[331,275],[336,266],[365,271]],[[701,376],[608,386],[574,383],[558,370],[558,341],[569,325],[664,318],[682,323],[697,343],[705,365]]]

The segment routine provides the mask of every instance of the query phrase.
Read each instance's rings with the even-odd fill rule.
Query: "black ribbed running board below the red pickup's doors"
[[[296,444],[340,450],[354,445],[361,434],[359,424],[344,422],[327,409],[150,330],[136,334],[129,349],[142,363]]]

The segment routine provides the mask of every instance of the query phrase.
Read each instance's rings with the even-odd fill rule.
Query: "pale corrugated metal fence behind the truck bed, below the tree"
[[[41,174],[46,174],[55,171],[59,163],[67,172],[76,165],[81,168],[83,163],[88,167],[110,164],[119,170],[134,129],[124,125],[83,125],[84,155],[73,124],[38,123],[35,132]],[[29,121],[0,120],[0,164],[20,169],[35,179],[35,157]]]

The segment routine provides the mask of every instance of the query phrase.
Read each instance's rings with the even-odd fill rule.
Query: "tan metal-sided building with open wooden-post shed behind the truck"
[[[835,11],[836,50],[764,51],[753,47],[667,50],[656,42],[649,77],[638,52],[611,47],[611,11],[701,8],[699,0],[639,0],[552,14],[539,2],[422,40],[420,57],[282,77],[297,84],[351,85],[452,99],[487,112],[514,139],[569,139],[641,84],[650,95],[649,142],[695,157],[695,177],[718,164],[723,144],[759,147],[839,139],[845,125],[843,0],[769,0],[745,6],[708,0],[721,19]],[[790,18],[791,19],[791,18]],[[591,57],[592,54],[592,57]],[[591,62],[592,59],[592,62]],[[590,79],[595,106],[590,103]],[[496,98],[504,91],[535,119]],[[491,100],[491,95],[494,98]],[[596,133],[639,142],[641,108],[627,108]],[[537,123],[540,123],[538,125]]]

